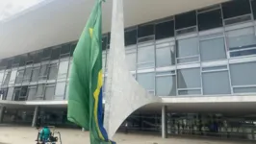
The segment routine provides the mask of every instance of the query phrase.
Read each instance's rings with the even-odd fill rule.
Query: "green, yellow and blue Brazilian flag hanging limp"
[[[73,55],[67,119],[90,131],[90,144],[114,143],[103,128],[102,0],[96,0]]]

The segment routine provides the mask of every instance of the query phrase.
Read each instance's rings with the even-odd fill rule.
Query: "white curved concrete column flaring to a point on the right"
[[[160,101],[160,98],[148,94],[128,70],[124,49],[123,1],[114,0],[104,117],[109,137],[114,136],[123,121],[136,109]]]

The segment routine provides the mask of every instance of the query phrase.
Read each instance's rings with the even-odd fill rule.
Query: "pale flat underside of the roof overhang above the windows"
[[[94,0],[44,0],[35,8],[0,22],[0,59],[77,40]],[[130,27],[227,0],[124,0]],[[103,32],[111,28],[112,1],[103,4]]]

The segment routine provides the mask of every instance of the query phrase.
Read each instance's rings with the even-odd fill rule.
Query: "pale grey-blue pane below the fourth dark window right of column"
[[[178,40],[177,58],[190,57],[198,55],[198,38],[192,37]]]

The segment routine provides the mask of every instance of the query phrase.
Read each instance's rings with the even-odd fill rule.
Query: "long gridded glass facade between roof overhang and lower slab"
[[[156,96],[255,94],[255,6],[253,0],[231,1],[127,28],[127,67]],[[102,36],[105,77],[110,39],[110,33]],[[0,60],[2,99],[67,99],[75,46]]]

